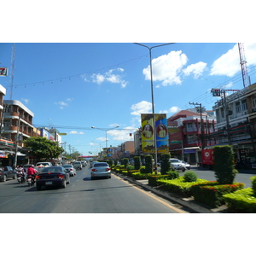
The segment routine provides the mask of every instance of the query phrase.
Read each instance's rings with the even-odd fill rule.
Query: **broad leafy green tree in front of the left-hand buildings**
[[[37,160],[57,158],[64,149],[59,147],[57,142],[53,142],[45,137],[29,137],[24,143],[29,149],[29,155]]]

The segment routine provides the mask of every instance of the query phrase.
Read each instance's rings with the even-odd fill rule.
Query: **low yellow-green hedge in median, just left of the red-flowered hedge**
[[[169,192],[182,195],[184,197],[190,197],[192,196],[191,187],[197,183],[203,182],[207,182],[207,180],[198,178],[196,182],[186,183],[184,182],[184,177],[179,177],[172,180],[159,179],[157,184],[162,185],[162,188]]]

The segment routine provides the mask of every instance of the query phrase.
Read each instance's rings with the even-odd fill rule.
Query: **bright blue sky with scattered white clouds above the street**
[[[140,43],[152,47],[166,43]],[[0,78],[10,99],[14,44],[0,44]],[[244,44],[248,74],[256,82],[256,44]],[[212,88],[242,89],[236,43],[177,43],[152,49],[154,112],[167,117],[198,102],[212,109]],[[33,124],[56,127],[81,154],[131,140],[140,113],[151,113],[148,49],[132,43],[15,44],[13,100],[34,113]],[[73,128],[70,129],[70,126]],[[93,142],[92,142],[93,141]]]

